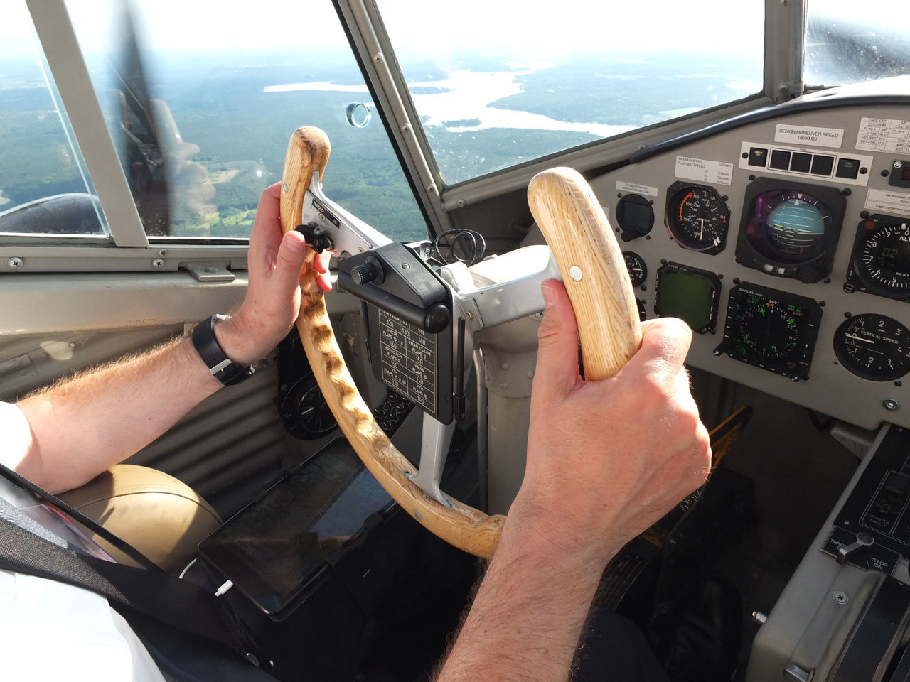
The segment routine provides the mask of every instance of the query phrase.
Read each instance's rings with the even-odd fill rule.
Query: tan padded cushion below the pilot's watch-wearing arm
[[[215,509],[174,476],[120,464],[60,495],[67,504],[136,547],[165,570],[185,567],[199,541],[221,525]],[[84,528],[117,561],[136,562]]]

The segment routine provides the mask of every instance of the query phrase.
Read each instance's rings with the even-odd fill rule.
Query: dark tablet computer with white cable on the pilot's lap
[[[364,520],[393,504],[338,438],[199,543],[199,555],[280,620],[319,587]]]

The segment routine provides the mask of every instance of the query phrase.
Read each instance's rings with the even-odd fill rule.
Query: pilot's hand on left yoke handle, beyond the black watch
[[[299,232],[281,235],[280,193],[277,183],[259,197],[249,236],[247,296],[231,319],[215,327],[227,356],[242,365],[256,362],[277,346],[294,326],[300,309],[300,269],[308,246]],[[313,266],[319,273],[319,288],[329,291],[329,253],[316,256]]]

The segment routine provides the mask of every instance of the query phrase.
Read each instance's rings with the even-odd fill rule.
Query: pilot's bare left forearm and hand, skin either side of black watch
[[[267,355],[298,315],[307,247],[299,233],[281,234],[280,191],[280,184],[270,186],[259,201],[243,305],[215,327],[218,345],[241,366]],[[328,256],[313,263],[324,291],[331,288]],[[53,386],[19,403],[32,442],[17,469],[55,492],[81,486],[147,446],[220,387],[189,339]]]

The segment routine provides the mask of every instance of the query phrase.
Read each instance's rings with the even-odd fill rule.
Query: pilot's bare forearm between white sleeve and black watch
[[[220,386],[189,339],[76,376],[17,404],[32,441],[16,468],[52,492],[81,486]]]

